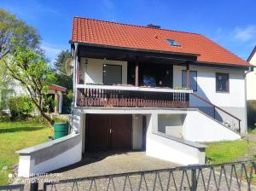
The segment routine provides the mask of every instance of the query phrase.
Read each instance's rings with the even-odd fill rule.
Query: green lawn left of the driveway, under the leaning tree
[[[15,151],[47,142],[52,135],[48,125],[35,121],[0,122],[0,185],[8,183],[11,166],[19,161]],[[3,166],[8,170],[3,171]]]

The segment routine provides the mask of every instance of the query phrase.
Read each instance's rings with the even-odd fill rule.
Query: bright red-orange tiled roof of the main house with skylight
[[[166,39],[177,41],[171,46]],[[179,54],[198,55],[197,61],[248,66],[237,55],[201,34],[126,25],[80,17],[73,19],[72,42],[93,43],[129,49],[147,49]]]

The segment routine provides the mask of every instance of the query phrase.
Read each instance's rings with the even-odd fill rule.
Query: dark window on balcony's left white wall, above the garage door
[[[103,84],[122,84],[122,66],[104,64]]]

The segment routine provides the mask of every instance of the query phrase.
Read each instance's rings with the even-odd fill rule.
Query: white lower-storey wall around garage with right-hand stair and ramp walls
[[[143,116],[147,120],[146,154],[182,165],[203,164],[205,146],[196,142],[238,140],[236,132],[201,113],[198,109],[153,108],[79,108],[74,129],[81,133],[85,144],[86,114],[131,114],[132,148],[143,147]],[[167,124],[168,120],[172,122]],[[166,133],[160,131],[164,130]],[[179,132],[179,136],[177,136]]]

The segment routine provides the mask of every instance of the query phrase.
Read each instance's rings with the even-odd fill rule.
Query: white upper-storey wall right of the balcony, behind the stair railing
[[[173,87],[182,86],[182,70],[185,67],[173,67]],[[212,67],[195,67],[190,66],[190,71],[197,72],[197,91],[194,93],[201,96],[212,104],[223,108],[228,113],[241,119],[241,132],[247,132],[247,110],[246,110],[246,80],[245,72],[241,69],[224,69]],[[216,91],[216,73],[229,73],[230,75],[230,91],[217,92]],[[190,96],[190,107],[200,108],[201,111],[213,117],[213,107],[204,101]],[[226,113],[219,111],[215,112],[216,119],[230,124],[230,126],[237,126],[238,121]]]

